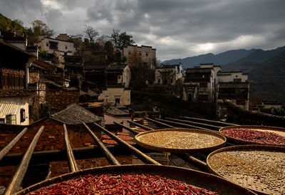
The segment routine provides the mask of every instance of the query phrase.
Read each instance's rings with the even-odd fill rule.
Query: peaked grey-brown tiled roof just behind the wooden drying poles
[[[84,109],[77,104],[68,106],[62,111],[58,111],[56,114],[51,115],[51,119],[58,121],[62,124],[86,124],[95,123],[100,121],[100,116],[93,114],[92,112]]]

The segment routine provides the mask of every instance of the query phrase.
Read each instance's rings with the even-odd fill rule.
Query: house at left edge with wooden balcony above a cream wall
[[[28,69],[36,56],[0,40],[0,121],[6,124],[29,124]],[[17,56],[17,57],[15,57]]]

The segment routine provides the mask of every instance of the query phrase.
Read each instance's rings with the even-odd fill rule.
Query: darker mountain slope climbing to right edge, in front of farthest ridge
[[[264,51],[262,49],[256,49],[252,52],[252,54],[249,54],[248,56],[245,56],[242,59],[239,59],[237,61],[234,61],[232,63],[229,63],[225,66],[222,66],[223,71],[244,71],[249,72],[254,67],[266,60],[271,59],[272,57],[278,55],[281,51],[285,50],[285,46],[279,47],[277,49],[271,49]]]

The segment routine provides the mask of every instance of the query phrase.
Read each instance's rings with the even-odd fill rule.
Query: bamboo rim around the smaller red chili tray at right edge
[[[236,139],[232,136],[227,136],[222,133],[222,131],[227,131],[228,129],[233,129],[233,128],[240,128],[240,129],[260,129],[260,130],[270,130],[270,131],[282,131],[285,132],[285,128],[279,127],[279,126],[257,126],[257,125],[237,125],[237,126],[224,126],[221,129],[219,129],[219,133],[222,134],[227,138],[227,140],[232,141],[236,144],[254,144],[254,145],[263,145],[263,146],[285,146],[285,144],[262,144],[262,143],[257,143],[255,141],[247,141],[247,140],[241,140],[241,139]]]

